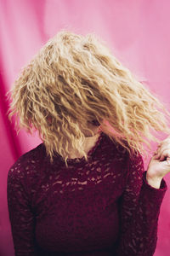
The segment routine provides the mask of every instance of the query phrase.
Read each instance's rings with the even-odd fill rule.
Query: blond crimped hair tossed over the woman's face
[[[87,130],[88,122],[98,121],[114,143],[142,155],[143,143],[150,148],[147,139],[160,143],[150,128],[170,134],[170,113],[158,96],[123,67],[94,33],[58,32],[21,70],[8,93],[8,118],[17,114],[17,131],[36,129],[50,160],[57,152],[66,166],[69,145],[88,160],[80,124]]]

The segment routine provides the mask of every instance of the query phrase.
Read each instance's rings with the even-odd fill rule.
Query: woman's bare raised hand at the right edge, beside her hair
[[[161,181],[170,172],[170,136],[163,140],[150,159],[146,172],[147,180]]]

